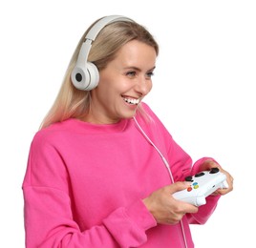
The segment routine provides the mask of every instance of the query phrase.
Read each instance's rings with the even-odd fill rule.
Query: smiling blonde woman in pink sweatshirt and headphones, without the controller
[[[189,224],[205,223],[233,178],[210,157],[192,166],[142,102],[158,54],[151,33],[126,17],[104,17],[82,36],[32,140],[26,247],[194,247]],[[213,167],[228,188],[205,205],[172,196],[185,176]]]

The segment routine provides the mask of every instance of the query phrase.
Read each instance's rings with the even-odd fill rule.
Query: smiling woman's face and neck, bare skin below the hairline
[[[105,69],[92,93],[84,120],[95,124],[116,123],[136,114],[139,102],[151,91],[155,49],[137,40],[126,43]]]

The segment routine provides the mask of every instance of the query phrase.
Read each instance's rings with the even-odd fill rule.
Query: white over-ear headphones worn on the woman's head
[[[89,52],[92,47],[92,42],[95,41],[99,31],[101,31],[107,24],[133,20],[121,15],[109,15],[101,18],[92,29],[87,33],[85,41],[83,42],[80,52],[75,63],[75,68],[71,73],[71,80],[76,89],[82,91],[91,91],[96,88],[99,81],[99,72],[96,65],[87,61]]]

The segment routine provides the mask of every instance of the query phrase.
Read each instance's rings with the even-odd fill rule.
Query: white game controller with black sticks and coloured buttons
[[[173,196],[197,207],[204,205],[205,198],[216,190],[228,188],[226,176],[218,168],[203,171],[195,176],[186,176],[185,181],[190,181],[191,184],[185,190],[174,193]]]

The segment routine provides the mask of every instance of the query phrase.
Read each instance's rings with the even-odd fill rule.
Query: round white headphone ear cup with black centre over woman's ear
[[[99,81],[99,72],[96,65],[87,62],[86,68],[75,66],[71,73],[71,79],[76,89],[81,91],[91,91],[96,88]]]

